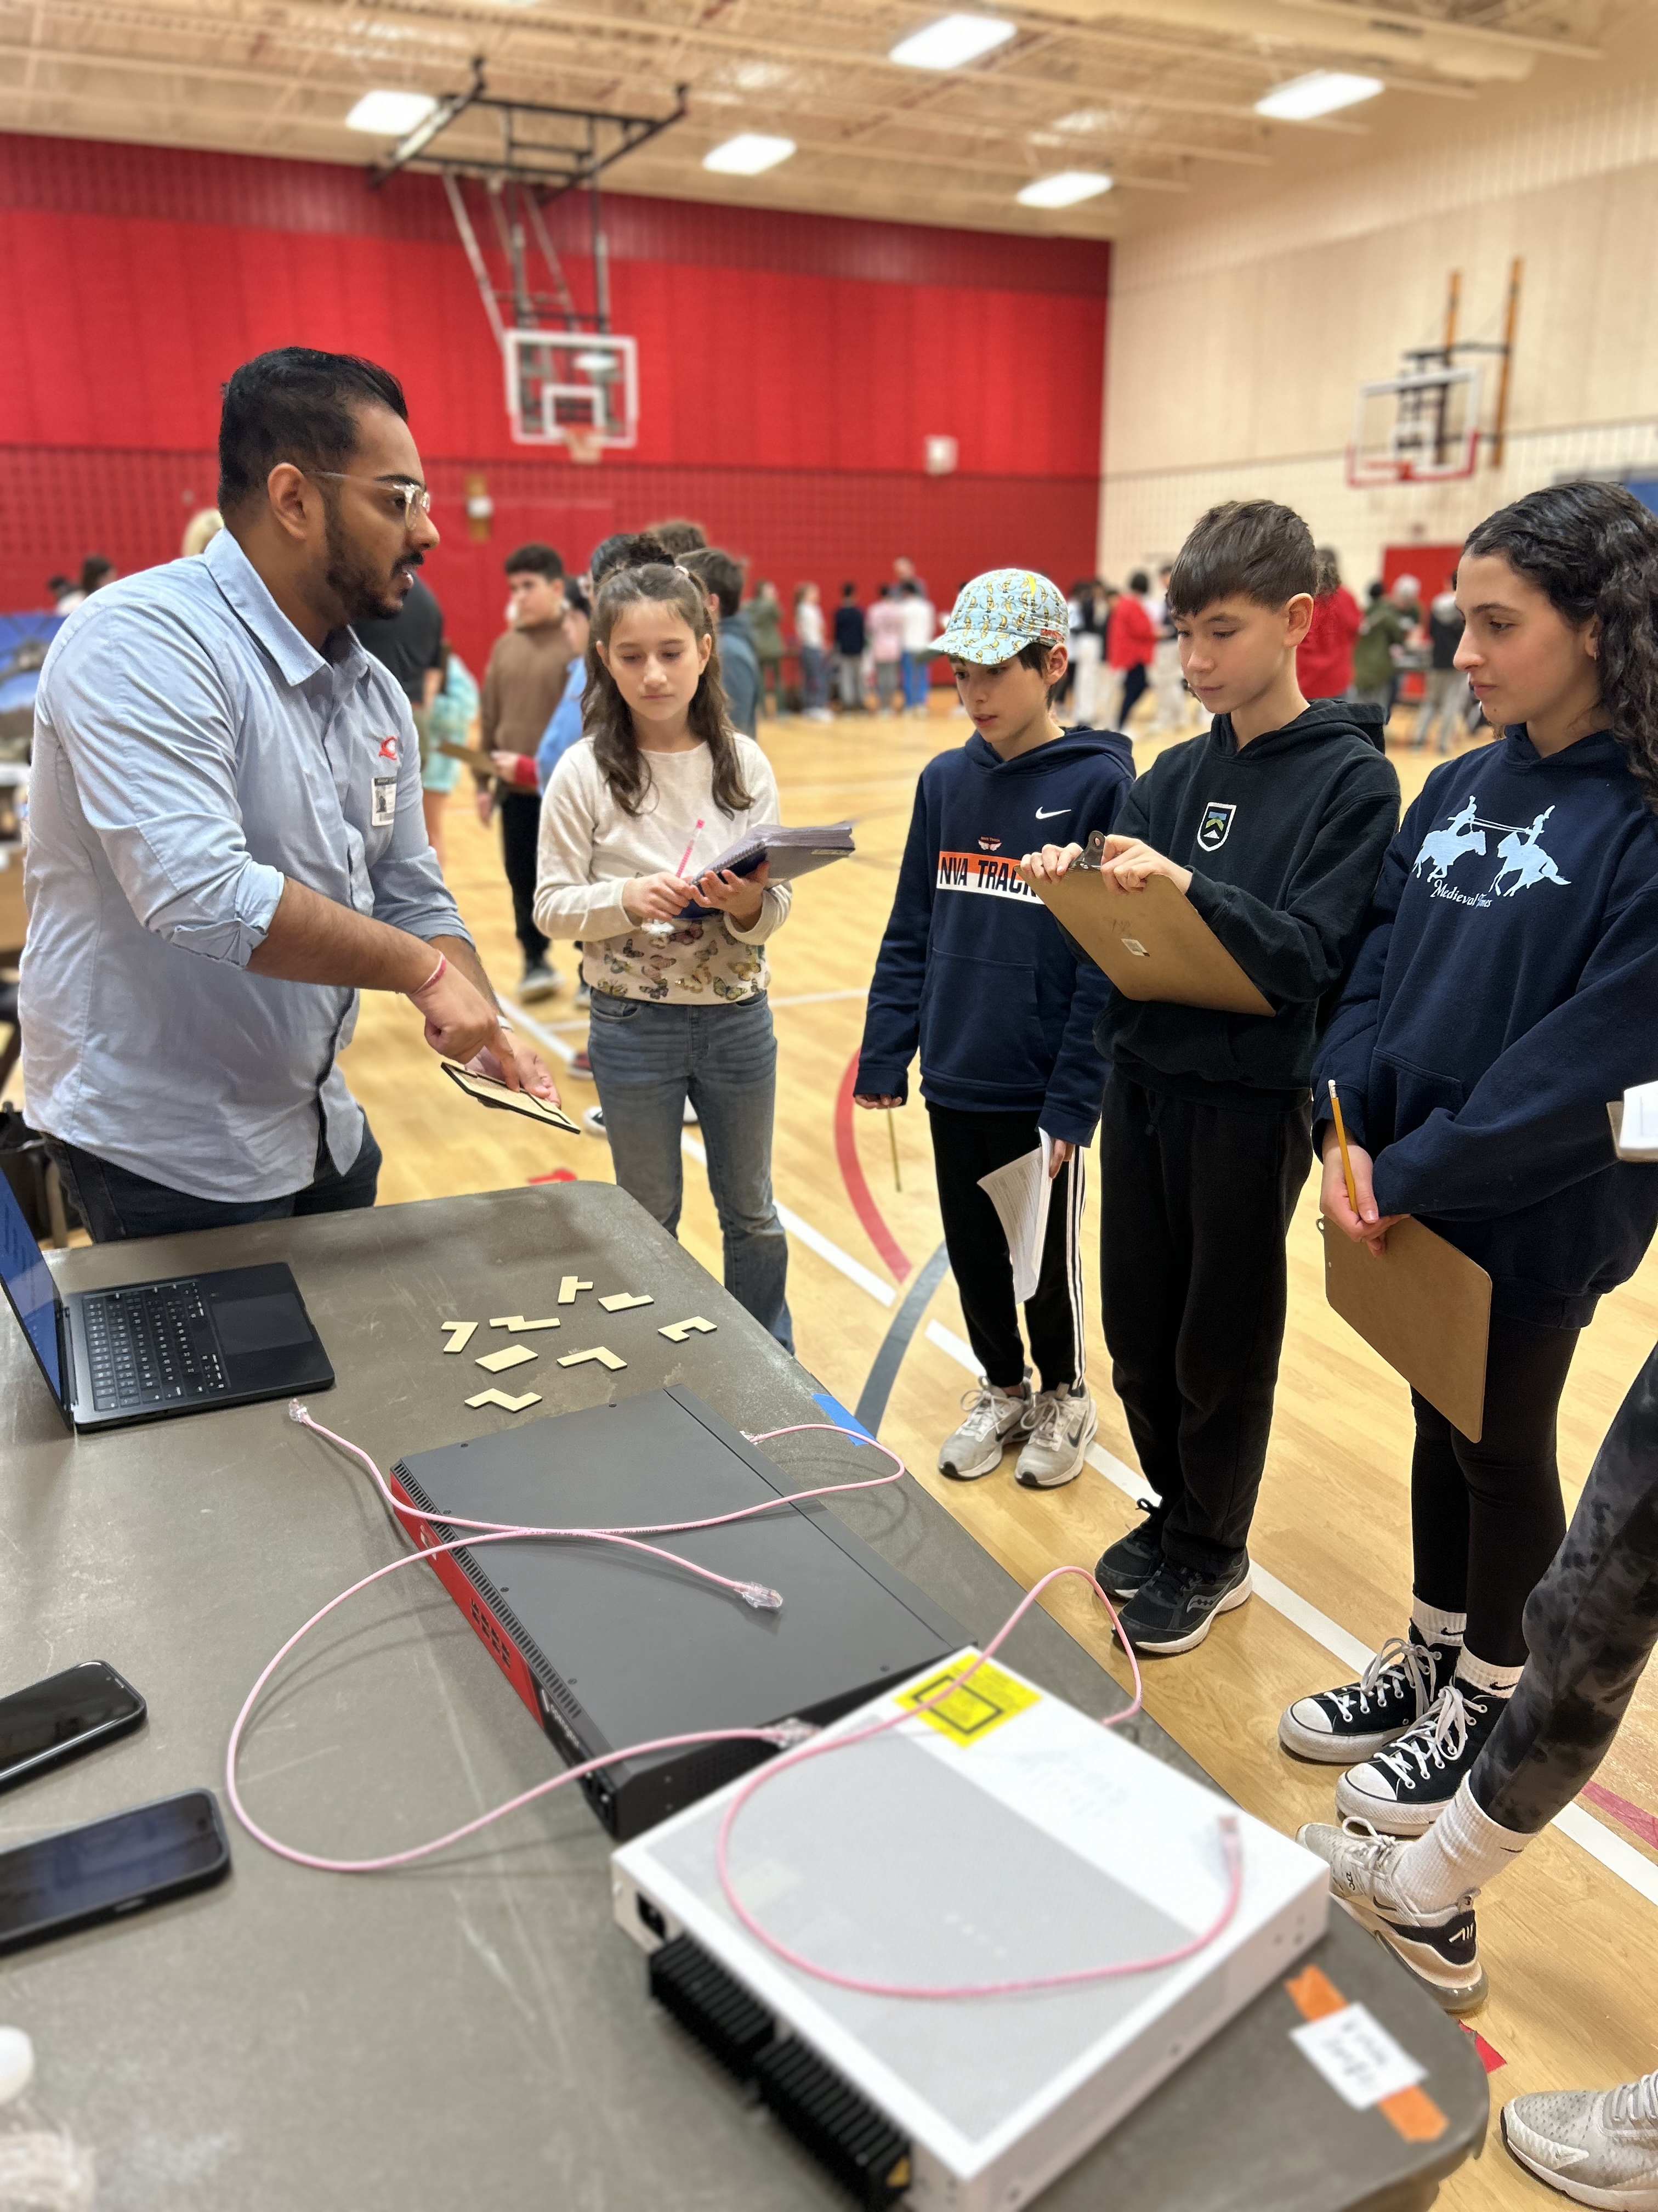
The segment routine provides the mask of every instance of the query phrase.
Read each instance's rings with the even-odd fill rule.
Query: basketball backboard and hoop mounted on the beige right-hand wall
[[[1501,467],[1508,434],[1508,383],[1519,321],[1521,261],[1508,270],[1508,303],[1501,341],[1459,338],[1461,272],[1450,272],[1446,334],[1439,345],[1417,345],[1404,354],[1399,376],[1362,383],[1353,405],[1353,438],[1346,449],[1346,480],[1364,491],[1377,484],[1433,484],[1472,476],[1486,445],[1490,467]],[[1492,427],[1481,422],[1483,367],[1497,361],[1497,405]],[[1366,418],[1377,403],[1393,400],[1384,447],[1366,442]]]

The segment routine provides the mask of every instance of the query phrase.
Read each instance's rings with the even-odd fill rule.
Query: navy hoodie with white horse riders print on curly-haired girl
[[[1318,1055],[1384,1214],[1492,1279],[1492,1312],[1583,1327],[1658,1223],[1607,1102],[1658,1079],[1658,818],[1616,737],[1523,728],[1428,776]],[[1329,1119],[1329,1108],[1320,1119]]]

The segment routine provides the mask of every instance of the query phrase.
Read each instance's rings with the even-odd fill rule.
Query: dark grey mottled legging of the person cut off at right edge
[[[1658,1349],[1607,1429],[1547,1575],[1525,1606],[1525,1672],[1468,1787],[1534,1836],[1612,1747],[1658,1644]]]

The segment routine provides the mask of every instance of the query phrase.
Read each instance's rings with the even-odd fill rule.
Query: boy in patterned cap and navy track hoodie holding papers
[[[922,770],[856,1091],[860,1106],[902,1106],[920,1042],[944,1241],[984,1367],[937,1464],[964,1482],[988,1475],[1017,1440],[1017,1475],[1030,1489],[1072,1482],[1096,1429],[1077,1232],[1081,1150],[1099,1119],[1092,1026],[1105,978],[1077,958],[1015,863],[1043,823],[1077,838],[1110,830],[1134,774],[1125,737],[1054,721],[1066,635],[1066,597],[1048,577],[993,568],[962,588],[933,646],[951,655],[975,734]],[[1052,1192],[1026,1301],[1041,1376],[1032,1398],[1008,1241],[979,1179],[1043,1135]]]

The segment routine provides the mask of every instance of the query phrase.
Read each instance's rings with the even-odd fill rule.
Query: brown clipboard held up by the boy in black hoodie
[[[1101,874],[1101,849],[1103,838],[1094,832],[1081,860],[1059,883],[1032,883],[1030,889],[1123,998],[1271,1015],[1273,1009],[1167,876],[1152,876],[1143,891],[1123,891]]]

